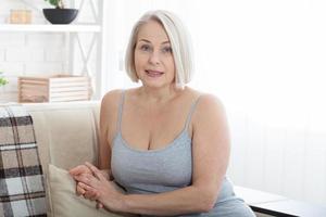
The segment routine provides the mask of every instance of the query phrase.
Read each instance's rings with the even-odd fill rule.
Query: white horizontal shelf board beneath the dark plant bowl
[[[0,24],[0,31],[100,33],[99,25]]]

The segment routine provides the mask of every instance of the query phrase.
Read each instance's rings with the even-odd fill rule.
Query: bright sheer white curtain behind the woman
[[[108,10],[108,90],[135,86],[123,72],[133,24],[148,10],[176,12],[195,48],[190,87],[224,102],[236,184],[326,201],[326,1],[118,0]]]

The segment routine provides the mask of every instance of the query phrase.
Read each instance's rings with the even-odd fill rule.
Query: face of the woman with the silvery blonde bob
[[[135,68],[143,86],[160,88],[174,85],[175,64],[170,39],[155,21],[143,24],[138,31]]]

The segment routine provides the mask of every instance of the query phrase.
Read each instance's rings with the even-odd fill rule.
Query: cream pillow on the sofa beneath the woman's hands
[[[70,174],[54,165],[49,165],[49,183],[54,217],[121,217],[104,209],[97,209],[96,202],[85,200],[75,193],[76,183]]]

